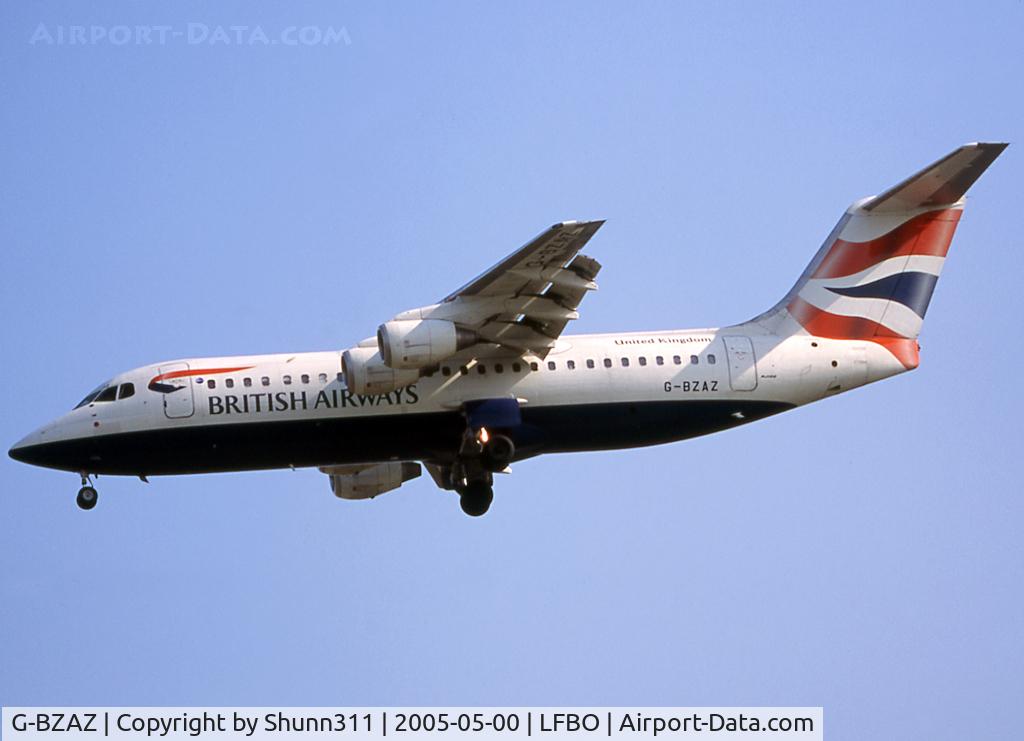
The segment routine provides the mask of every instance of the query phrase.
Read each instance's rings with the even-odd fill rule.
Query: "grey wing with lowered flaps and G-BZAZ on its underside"
[[[435,315],[476,333],[481,343],[544,357],[577,309],[601,264],[580,250],[604,221],[563,221],[446,296]],[[469,353],[475,356],[472,351]]]

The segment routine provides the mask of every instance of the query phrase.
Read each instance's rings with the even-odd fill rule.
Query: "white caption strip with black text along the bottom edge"
[[[800,739],[820,707],[5,707],[4,739]]]

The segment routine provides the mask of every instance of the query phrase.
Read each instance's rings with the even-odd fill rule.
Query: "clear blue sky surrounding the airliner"
[[[913,374],[723,435],[425,479],[4,459],[0,702],[823,705],[830,741],[1015,738],[1019,2],[5,3],[9,445],[114,373],[344,348],[605,218],[578,332],[752,316],[853,200],[972,140]],[[39,25],[344,28],[329,46]],[[198,27],[197,27],[198,28]]]

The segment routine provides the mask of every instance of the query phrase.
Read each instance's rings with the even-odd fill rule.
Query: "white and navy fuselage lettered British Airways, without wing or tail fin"
[[[386,421],[395,440],[400,440],[408,425],[458,416],[466,402],[495,398],[517,399],[527,421],[547,420],[539,416],[558,410],[561,428],[571,428],[572,418],[580,412],[608,409],[607,415],[586,417],[588,429],[580,430],[579,444],[565,440],[563,430],[547,441],[541,439],[537,449],[525,447],[529,454],[630,447],[725,429],[905,369],[876,343],[806,334],[779,337],[757,324],[565,336],[544,359],[496,356],[467,365],[458,360],[442,362],[431,375],[387,394],[348,391],[340,358],[340,352],[332,351],[186,358],[146,365],[110,382],[111,386],[132,384],[135,392],[130,397],[80,406],[32,433],[18,447],[123,442],[158,432],[191,433],[191,439],[204,432],[202,446],[190,450],[188,460],[175,460],[180,444],[163,451],[147,449],[141,456],[137,446],[124,450],[125,456],[134,454],[137,462],[115,460],[116,449],[96,447],[90,452],[88,445],[79,445],[78,457],[52,462],[55,468],[134,475],[397,460],[412,451],[400,445],[393,452],[386,446],[368,448],[357,426],[344,428],[344,435],[312,459],[303,456],[301,450],[285,457],[261,453],[251,465],[245,455],[218,463],[218,447],[230,446],[227,439],[219,442],[218,438],[242,436],[244,441],[247,434],[258,431],[262,442],[267,431],[271,436],[275,428],[284,432],[286,423],[288,435],[295,437],[296,429],[304,434],[324,425],[376,420]],[[153,379],[169,373],[179,374],[175,383],[184,388],[170,394],[147,388]],[[687,409],[702,408],[709,402],[715,403],[716,411],[708,424],[693,427],[679,422]],[[641,415],[634,425],[624,427],[622,410],[629,405],[635,409],[637,404],[644,409],[671,406],[679,411],[670,418]],[[770,406],[761,412],[761,404]],[[667,419],[673,422],[666,423]],[[644,429],[645,421],[662,429]],[[550,424],[539,423],[542,428]],[[602,425],[607,430],[593,429]],[[154,445],[159,443],[148,447]],[[252,446],[263,449],[255,443]],[[281,447],[285,445],[273,445],[273,449]],[[83,460],[86,453],[95,460]],[[438,451],[437,456],[442,455]]]

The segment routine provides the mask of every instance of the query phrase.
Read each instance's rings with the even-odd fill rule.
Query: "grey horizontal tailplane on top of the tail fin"
[[[1009,144],[1004,142],[965,144],[876,195],[861,208],[874,213],[889,213],[954,204],[964,198],[968,188],[1007,146]]]

